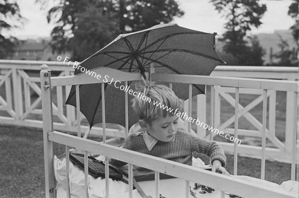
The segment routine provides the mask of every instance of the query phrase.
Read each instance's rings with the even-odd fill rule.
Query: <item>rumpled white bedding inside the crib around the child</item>
[[[104,160],[104,156],[97,157],[98,160]],[[209,168],[208,165],[205,165],[203,161],[199,158],[192,158],[192,166],[199,168]],[[126,168],[123,167],[123,168]],[[134,170],[133,170],[134,171]],[[54,156],[54,173],[57,180],[57,198],[66,198],[66,160],[62,161]],[[281,185],[268,182],[265,180],[260,180],[257,178],[252,178],[248,176],[233,176],[237,180],[243,180],[247,182],[252,182],[258,184],[259,186],[273,188],[282,192],[289,192],[290,195],[298,196],[299,195],[299,182],[297,181],[286,181]],[[88,177],[88,195],[89,198],[105,198],[105,179],[102,178],[93,178],[89,175]],[[166,179],[160,180],[160,192],[165,198],[181,198],[184,197],[184,188],[185,181],[175,178],[175,179]],[[109,179],[110,185],[110,198],[128,198],[129,197],[129,186],[121,181],[115,181]],[[139,182],[139,185],[142,187],[144,192],[147,195],[154,195],[155,184],[154,181]],[[70,162],[69,168],[69,186],[70,186],[70,198],[84,198],[84,172],[79,169],[76,165],[73,165]],[[190,182],[190,186],[194,187],[194,183]],[[214,191],[209,194],[199,194],[200,190],[195,191],[198,198],[219,198],[220,191]],[[133,198],[142,198],[137,190],[133,190]],[[190,198],[193,198],[190,194]],[[225,195],[225,198],[229,198],[228,195]]]

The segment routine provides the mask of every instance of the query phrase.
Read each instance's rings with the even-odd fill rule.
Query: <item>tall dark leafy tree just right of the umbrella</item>
[[[263,50],[257,39],[251,39],[247,33],[252,27],[258,28],[262,24],[260,19],[267,10],[266,5],[259,4],[256,0],[210,0],[210,2],[227,19],[225,23],[227,31],[220,39],[225,42],[224,52],[237,58],[239,65],[253,64],[256,61],[250,60],[253,56],[261,63],[262,57],[260,56],[263,56]],[[251,44],[252,49],[247,40],[254,42]]]

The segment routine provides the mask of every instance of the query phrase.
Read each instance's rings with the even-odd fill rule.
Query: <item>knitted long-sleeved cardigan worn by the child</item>
[[[187,165],[192,165],[192,152],[195,151],[206,154],[211,158],[211,163],[217,159],[221,161],[223,167],[226,166],[226,157],[220,144],[215,141],[196,137],[181,129],[177,130],[173,141],[158,141],[150,151],[144,141],[142,133],[131,134],[128,136],[123,148]],[[110,164],[116,167],[122,167],[127,163],[111,159]],[[134,175],[147,175],[154,173],[153,171],[143,167],[134,166],[134,168],[136,169]]]

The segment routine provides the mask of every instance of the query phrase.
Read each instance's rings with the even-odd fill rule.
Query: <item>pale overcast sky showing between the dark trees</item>
[[[217,32],[222,35],[225,31],[225,18],[221,16],[209,0],[177,0],[179,7],[185,14],[174,19],[179,26],[202,32]],[[47,23],[46,10],[41,10],[35,0],[18,0],[20,13],[27,19],[20,29],[4,32],[4,36],[11,35],[19,39],[50,37],[54,24]],[[253,28],[252,33],[273,33],[275,30],[287,30],[294,24],[294,19],[289,16],[288,10],[292,0],[260,0],[267,5],[262,22],[258,28]]]

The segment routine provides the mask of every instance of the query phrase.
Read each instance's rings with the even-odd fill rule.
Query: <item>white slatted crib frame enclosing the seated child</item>
[[[45,193],[46,198],[54,198],[55,196],[55,178],[53,170],[53,142],[66,145],[66,156],[67,156],[67,174],[69,169],[69,158],[68,152],[69,147],[76,147],[85,153],[85,195],[87,194],[87,156],[88,152],[99,153],[105,156],[106,162],[109,158],[114,158],[127,162],[129,164],[129,198],[132,198],[133,192],[133,164],[142,166],[155,171],[155,198],[159,197],[159,178],[158,173],[165,173],[177,178],[184,179],[185,185],[185,196],[189,196],[189,181],[198,182],[206,186],[212,187],[216,190],[221,191],[221,198],[224,198],[224,192],[230,192],[234,195],[239,195],[245,198],[295,198],[287,193],[281,193],[278,190],[270,188],[262,188],[258,185],[251,184],[244,181],[238,181],[234,178],[224,176],[221,174],[212,173],[209,171],[200,170],[192,166],[180,164],[165,160],[162,158],[146,155],[143,153],[122,149],[116,146],[106,144],[106,127],[105,127],[105,113],[103,113],[103,143],[97,141],[84,139],[80,136],[80,105],[79,105],[79,84],[88,83],[102,83],[102,96],[104,96],[104,83],[94,77],[87,77],[85,74],[77,76],[61,76],[51,77],[48,66],[42,65],[40,71],[41,78],[41,90],[42,90],[42,118],[43,118],[43,142],[44,142],[44,162],[45,162]],[[134,81],[141,80],[142,75],[140,73],[129,73],[108,67],[97,68],[94,70],[96,73],[101,73],[114,78],[114,81]],[[169,82],[170,87],[172,82],[175,83],[188,83],[189,84],[189,98],[192,97],[192,84],[206,84],[211,85],[212,97],[211,97],[211,108],[213,104],[213,88],[214,85],[231,86],[236,87],[236,108],[235,108],[235,123],[238,123],[238,98],[239,88],[255,88],[264,90],[264,102],[263,102],[263,136],[262,136],[262,173],[261,178],[265,176],[265,150],[266,150],[266,110],[267,110],[267,90],[282,90],[294,92],[294,106],[297,107],[297,96],[298,96],[298,82],[285,81],[285,80],[265,80],[265,79],[251,79],[251,78],[233,78],[233,77],[217,77],[217,76],[196,76],[196,75],[178,75],[178,74],[159,74],[154,73],[153,69],[149,70],[146,75],[153,81],[164,81]],[[53,115],[52,115],[52,97],[51,87],[53,86],[65,86],[65,85],[76,85],[76,98],[77,98],[77,119],[78,122],[78,136],[65,134],[62,132],[56,132],[53,130]],[[125,115],[126,115],[126,137],[128,135],[128,93],[125,94]],[[104,97],[102,97],[104,98]],[[105,101],[102,102],[103,109],[105,109]],[[189,99],[189,116],[191,109],[191,99]],[[105,112],[105,111],[103,111]],[[211,112],[213,112],[211,110]],[[211,115],[211,123],[213,124],[213,115]],[[295,180],[295,161],[296,161],[296,134],[297,134],[297,108],[294,108],[294,126],[293,126],[293,145],[292,151],[292,180]],[[188,130],[191,129],[191,123],[189,122]],[[238,124],[235,125],[235,137],[238,137]],[[212,135],[211,135],[212,139]],[[234,156],[234,174],[237,170],[237,152],[238,144],[235,143],[235,156]],[[108,174],[108,163],[106,163],[106,175]],[[106,177],[106,197],[109,198],[109,182]],[[68,183],[67,175],[67,183]],[[68,185],[67,185],[68,186]],[[256,192],[259,192],[258,195]],[[67,189],[69,195],[69,189]]]

